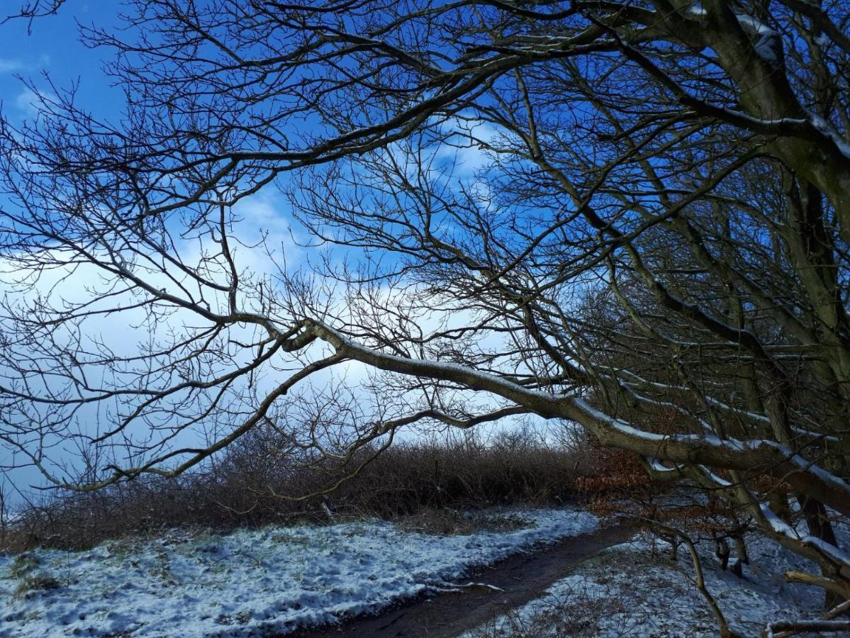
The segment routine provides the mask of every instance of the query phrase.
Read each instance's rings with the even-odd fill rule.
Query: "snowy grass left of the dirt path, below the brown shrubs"
[[[469,535],[348,522],[226,535],[173,532],[81,552],[0,556],[0,636],[282,633],[376,612],[445,587],[468,567],[597,524],[569,509],[519,516],[524,528]]]

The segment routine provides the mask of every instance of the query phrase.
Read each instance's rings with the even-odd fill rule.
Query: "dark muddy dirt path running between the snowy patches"
[[[352,618],[343,624],[304,630],[294,635],[312,638],[456,636],[541,596],[556,580],[564,578],[571,565],[606,547],[624,542],[631,538],[632,533],[632,528],[620,526],[572,536],[532,553],[509,556],[490,567],[478,567],[457,579],[460,583],[472,580],[491,584],[503,591],[475,587],[458,594],[423,596],[401,602],[377,616]]]

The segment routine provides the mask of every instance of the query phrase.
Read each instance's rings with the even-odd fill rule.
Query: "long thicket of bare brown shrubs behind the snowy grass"
[[[523,522],[463,510],[558,504],[574,499],[579,488],[579,457],[570,446],[543,443],[519,431],[490,441],[464,437],[397,444],[331,494],[292,500],[284,497],[320,493],[345,477],[350,467],[325,459],[293,464],[275,453],[278,443],[269,432],[260,431],[202,471],[174,478],[139,477],[96,492],[58,494],[31,503],[21,512],[5,549],[77,549],[102,539],[158,534],[178,526],[227,529],[299,519],[329,522],[327,512],[334,519],[398,518],[417,531],[468,534],[483,528],[519,528]],[[371,449],[361,450],[351,463],[371,454]]]

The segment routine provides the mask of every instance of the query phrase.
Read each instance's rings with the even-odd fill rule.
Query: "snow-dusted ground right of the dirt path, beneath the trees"
[[[847,546],[847,527],[837,528]],[[811,572],[813,564],[775,543],[748,538],[751,564],[744,579],[724,572],[713,545],[698,543],[706,587],[730,629],[743,636],[762,635],[769,622],[814,619],[823,612],[822,592],[786,583],[789,569]],[[644,534],[609,547],[571,570],[544,596],[469,631],[463,638],[501,636],[717,636],[717,620],[693,584],[694,567],[681,546],[677,562],[669,545]]]

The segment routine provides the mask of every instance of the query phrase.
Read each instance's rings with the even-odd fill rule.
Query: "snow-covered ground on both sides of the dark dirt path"
[[[518,516],[524,525],[513,528]],[[232,534],[173,531],[82,552],[0,556],[0,636],[281,634],[451,588],[469,567],[597,525],[589,513],[570,509],[501,512],[492,521],[490,529],[502,531],[445,536],[366,521]],[[850,545],[847,525],[837,531]],[[787,550],[748,539],[751,564],[739,579],[720,569],[711,544],[698,547],[706,585],[740,635],[761,635],[770,621],[819,615],[819,590],[782,578],[788,569],[813,567]],[[687,549],[679,549],[677,562],[668,550],[638,534],[467,638],[717,635],[716,619],[689,583]]]

